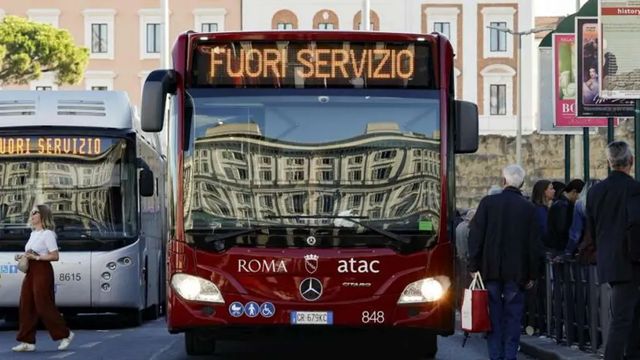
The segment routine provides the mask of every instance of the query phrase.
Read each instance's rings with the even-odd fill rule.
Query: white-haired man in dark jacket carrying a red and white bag
[[[504,190],[480,201],[469,232],[470,272],[480,271],[489,291],[492,360],[515,360],[524,310],[524,289],[533,286],[540,269],[540,226],[535,206],[520,188],[524,170],[502,170]]]

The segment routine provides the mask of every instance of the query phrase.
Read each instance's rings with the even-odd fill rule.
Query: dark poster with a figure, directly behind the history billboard
[[[633,117],[635,103],[630,99],[600,97],[598,67],[598,18],[577,17],[576,36],[578,56],[578,86],[576,109],[578,117]]]

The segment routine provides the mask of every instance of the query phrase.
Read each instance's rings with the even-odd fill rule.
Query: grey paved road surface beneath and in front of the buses
[[[44,330],[38,331],[37,351],[34,353],[13,353],[15,345],[15,324],[0,321],[0,359],[135,359],[135,360],[181,360],[202,359],[189,357],[184,350],[184,335],[171,335],[165,329],[164,319],[150,321],[137,328],[119,326],[119,319],[113,316],[97,316],[71,320],[76,338],[67,351],[58,351]],[[441,360],[484,360],[485,341],[473,336],[464,348],[462,335],[456,334],[439,339]],[[268,355],[268,356],[267,356]],[[217,360],[311,360],[311,359],[398,359],[392,344],[383,342],[352,342],[349,339],[305,339],[295,341],[276,339],[272,341],[254,340],[246,342],[221,342],[216,356],[204,357]],[[530,357],[520,356],[520,360]],[[403,359],[404,360],[404,359]]]

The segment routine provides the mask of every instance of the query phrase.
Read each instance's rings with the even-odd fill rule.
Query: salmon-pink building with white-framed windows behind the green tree
[[[170,42],[187,30],[240,29],[238,0],[170,0]],[[125,90],[134,105],[150,71],[161,66],[161,0],[6,0],[0,18],[26,17],[67,29],[78,45],[89,49],[83,81],[60,89]],[[8,86],[8,89],[27,88]],[[28,85],[32,90],[57,90],[54,74]]]

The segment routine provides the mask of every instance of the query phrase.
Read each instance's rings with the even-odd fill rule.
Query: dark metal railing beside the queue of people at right
[[[608,285],[600,286],[594,265],[548,259],[544,267],[544,278],[526,295],[527,333],[598,352],[609,328]]]

